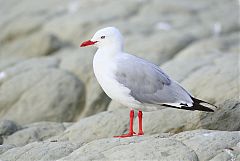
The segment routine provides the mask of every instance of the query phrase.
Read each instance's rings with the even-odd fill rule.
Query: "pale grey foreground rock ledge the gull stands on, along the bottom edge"
[[[80,137],[79,137],[80,138]],[[72,140],[73,141],[73,140]],[[125,139],[103,138],[90,143],[42,141],[7,147],[4,160],[215,160],[238,157],[239,131],[194,130]],[[101,147],[101,148],[99,148]],[[1,149],[1,147],[0,147]],[[229,152],[231,150],[231,152]],[[228,154],[229,156],[227,156]],[[223,160],[222,158],[221,160]]]

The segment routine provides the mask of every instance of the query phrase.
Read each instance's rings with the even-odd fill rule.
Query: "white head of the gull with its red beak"
[[[94,45],[98,48],[117,48],[122,50],[123,38],[119,30],[115,27],[106,27],[98,30],[91,40],[83,42],[80,47]]]

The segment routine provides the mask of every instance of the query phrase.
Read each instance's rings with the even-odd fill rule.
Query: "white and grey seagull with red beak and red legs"
[[[119,138],[143,135],[142,111],[164,106],[214,112],[212,105],[193,97],[157,65],[123,51],[123,37],[115,27],[98,30],[80,47],[98,48],[93,58],[94,74],[104,92],[114,101],[130,107],[129,132]],[[134,109],[138,110],[138,133],[133,131]]]

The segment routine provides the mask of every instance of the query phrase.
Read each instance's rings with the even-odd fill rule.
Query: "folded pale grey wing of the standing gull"
[[[128,56],[119,60],[116,79],[129,88],[130,95],[141,103],[191,101],[189,94],[158,66],[138,57]]]

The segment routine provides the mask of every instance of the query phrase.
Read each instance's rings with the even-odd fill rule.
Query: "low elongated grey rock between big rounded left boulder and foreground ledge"
[[[4,138],[4,144],[24,146],[35,141],[44,141],[52,136],[59,135],[71,124],[54,122],[38,122],[25,126],[22,130]]]

